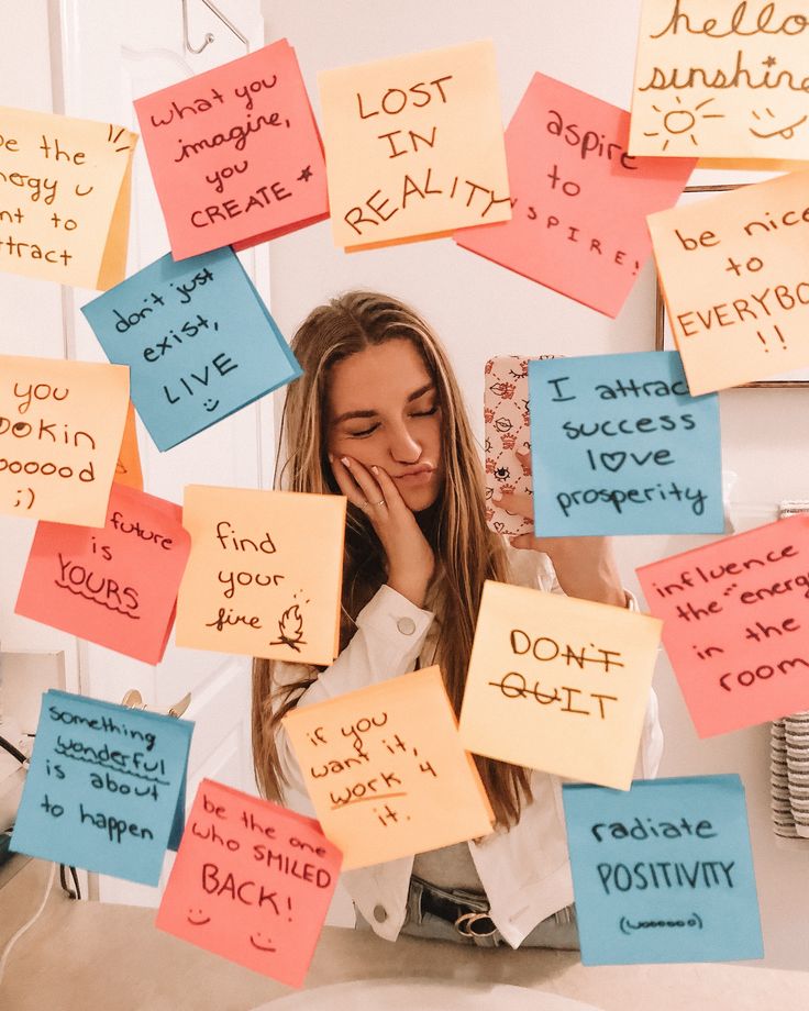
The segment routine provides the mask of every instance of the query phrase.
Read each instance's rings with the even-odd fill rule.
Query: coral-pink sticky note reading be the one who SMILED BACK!
[[[203,779],[155,926],[300,987],[340,860],[311,818]]]

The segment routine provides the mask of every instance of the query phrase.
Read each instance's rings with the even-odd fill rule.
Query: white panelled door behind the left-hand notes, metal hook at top
[[[258,0],[220,0],[219,9],[246,36],[250,52],[264,43]],[[54,11],[54,15],[56,12]],[[119,123],[137,132],[132,101],[248,52],[202,0],[188,0],[190,44],[207,33],[213,42],[195,55],[184,46],[181,0],[60,0],[63,111],[67,115]],[[56,75],[55,75],[56,76]],[[169,248],[163,215],[142,144],[134,160],[128,274]],[[248,274],[267,301],[269,265],[266,246],[242,255]],[[95,292],[67,290],[65,321],[70,357],[104,360],[79,307]],[[138,424],[144,488],[182,501],[187,484],[262,487],[271,475],[273,429],[268,401],[245,408],[167,453],[159,453]],[[250,747],[250,660],[169,644],[156,668],[91,644],[78,647],[78,684],[71,690],[121,701],[131,688],[149,709],[165,711],[186,692],[186,716],[196,723],[189,762],[189,801],[203,776],[254,791]],[[104,901],[155,904],[158,889],[113,878],[99,879]]]

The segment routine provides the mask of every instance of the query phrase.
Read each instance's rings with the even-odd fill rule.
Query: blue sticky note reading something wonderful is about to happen
[[[184,816],[193,723],[47,691],[12,846],[157,885]]]

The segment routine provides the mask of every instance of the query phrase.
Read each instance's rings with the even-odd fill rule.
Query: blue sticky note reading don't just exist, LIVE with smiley
[[[301,374],[230,246],[166,255],[81,308],[158,449]]]

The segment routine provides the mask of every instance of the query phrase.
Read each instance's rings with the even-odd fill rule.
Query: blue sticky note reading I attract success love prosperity
[[[529,363],[540,536],[722,533],[719,400],[677,352]]]

